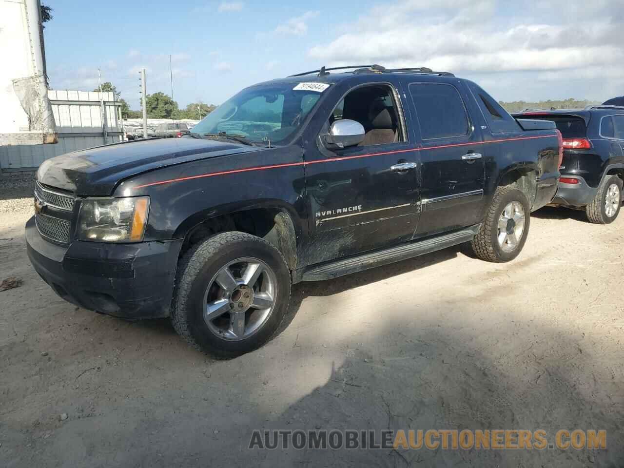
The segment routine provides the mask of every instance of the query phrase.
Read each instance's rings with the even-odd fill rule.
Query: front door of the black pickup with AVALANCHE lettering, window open
[[[364,141],[328,148],[304,144],[306,194],[314,249],[308,265],[396,245],[412,238],[419,212],[417,151],[402,104],[389,83],[357,87],[339,99],[321,135],[341,119],[356,120]]]

